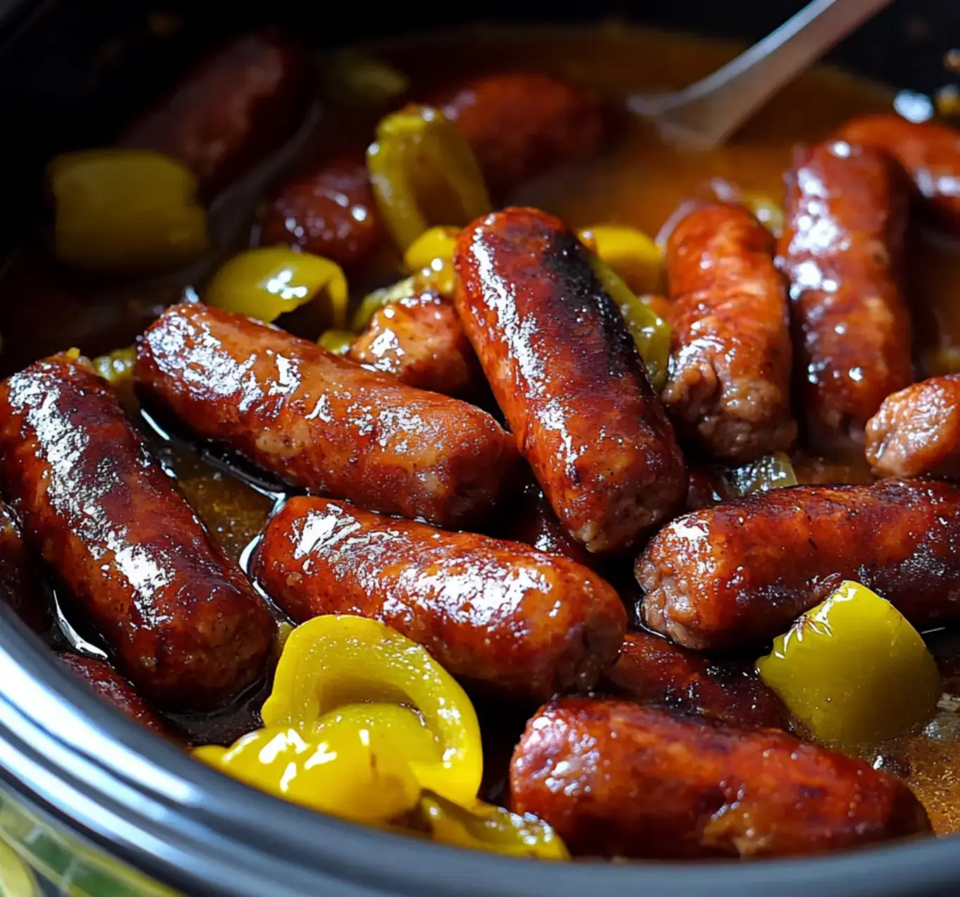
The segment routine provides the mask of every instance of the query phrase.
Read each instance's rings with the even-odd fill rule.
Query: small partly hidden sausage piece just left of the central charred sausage
[[[445,396],[477,395],[484,382],[456,309],[430,291],[380,308],[347,357]]]

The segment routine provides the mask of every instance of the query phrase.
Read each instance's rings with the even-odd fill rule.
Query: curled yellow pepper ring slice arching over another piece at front
[[[395,753],[416,747],[410,767],[424,787],[457,802],[476,797],[483,751],[467,695],[420,645],[376,620],[330,616],[298,626],[284,645],[261,715],[267,727],[313,732],[319,724],[325,732],[325,715],[360,702],[416,709],[437,743],[436,757],[422,759],[420,735],[395,743]]]

